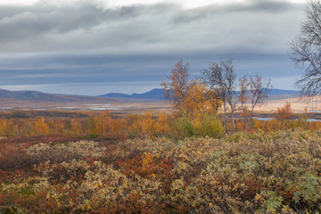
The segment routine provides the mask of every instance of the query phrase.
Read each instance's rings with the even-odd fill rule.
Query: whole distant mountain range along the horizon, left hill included
[[[271,95],[299,95],[299,91],[293,90],[281,90],[271,89]],[[8,91],[0,89],[0,98],[24,100],[24,101],[35,101],[35,102],[118,102],[119,100],[165,100],[164,90],[161,88],[152,89],[149,92],[143,94],[132,94],[126,95],[121,93],[110,93],[100,96],[87,96],[87,95],[56,95],[47,94],[38,91]]]

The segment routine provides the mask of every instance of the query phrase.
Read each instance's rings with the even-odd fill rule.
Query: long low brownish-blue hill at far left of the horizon
[[[86,96],[86,95],[56,95],[47,94],[38,91],[8,91],[0,89],[0,98],[23,100],[23,101],[35,101],[35,102],[106,102],[116,101],[111,98]]]

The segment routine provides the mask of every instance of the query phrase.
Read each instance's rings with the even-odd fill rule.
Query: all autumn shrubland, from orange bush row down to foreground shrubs
[[[2,119],[0,212],[321,212],[321,123],[292,117]]]

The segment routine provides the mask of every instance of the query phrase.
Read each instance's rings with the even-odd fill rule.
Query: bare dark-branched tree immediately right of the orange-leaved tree
[[[232,132],[235,131],[235,106],[238,100],[235,96],[235,70],[233,60],[222,61],[219,64],[211,62],[206,70],[202,70],[205,83],[210,90],[219,96],[222,101],[226,131],[228,130],[227,114],[230,111],[232,116]]]

